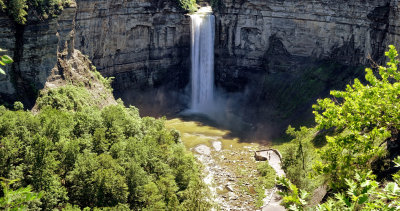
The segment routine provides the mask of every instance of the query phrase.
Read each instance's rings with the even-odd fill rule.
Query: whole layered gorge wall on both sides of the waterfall
[[[369,65],[369,55],[382,62],[386,46],[399,41],[398,0],[217,2],[216,84],[250,90],[246,96],[271,111],[340,88],[362,74],[355,67]],[[117,93],[189,82],[190,18],[175,0],[77,0],[57,18],[26,26],[0,14],[0,46],[15,59],[0,76],[5,101],[35,96],[74,48],[115,77]]]

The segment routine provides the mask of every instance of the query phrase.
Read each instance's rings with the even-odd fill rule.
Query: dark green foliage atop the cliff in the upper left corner
[[[55,17],[70,0],[0,0],[0,7],[18,24],[25,24],[28,13],[39,20]]]

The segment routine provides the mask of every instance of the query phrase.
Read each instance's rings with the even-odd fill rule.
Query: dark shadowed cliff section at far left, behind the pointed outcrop
[[[56,19],[20,26],[0,13],[0,48],[14,59],[4,67],[7,74],[0,76],[0,101],[21,100],[27,107],[32,105],[57,59],[74,50],[75,14],[76,5],[71,3]]]

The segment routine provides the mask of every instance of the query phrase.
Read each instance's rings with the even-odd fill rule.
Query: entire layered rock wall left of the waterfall
[[[0,76],[6,102],[33,105],[66,49],[82,51],[104,76],[115,77],[117,91],[166,81],[182,87],[190,74],[190,18],[173,0],[71,1],[57,18],[28,16],[24,26],[0,13],[0,46],[15,60]]]

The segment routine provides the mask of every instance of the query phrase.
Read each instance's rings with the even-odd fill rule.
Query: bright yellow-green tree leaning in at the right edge
[[[367,85],[358,79],[345,91],[332,91],[334,97],[318,100],[314,105],[318,129],[337,128],[343,132],[327,137],[328,144],[321,150],[316,170],[327,175],[334,190],[346,188],[346,179],[355,170],[366,173],[371,162],[383,156],[385,141],[397,139],[400,129],[400,72],[398,54],[389,46],[385,54],[386,67],[380,66],[375,75],[366,69]]]

